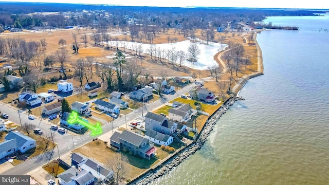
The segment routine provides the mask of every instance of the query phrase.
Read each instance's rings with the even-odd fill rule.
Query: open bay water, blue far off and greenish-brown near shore
[[[151,184],[329,184],[329,14],[268,17],[265,75],[243,87],[201,150]]]

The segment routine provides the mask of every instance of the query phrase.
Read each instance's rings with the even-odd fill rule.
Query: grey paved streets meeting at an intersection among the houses
[[[190,91],[193,88],[193,86],[194,86],[194,84],[190,84],[190,85],[187,85],[184,88],[178,90],[174,95],[165,95],[165,97],[144,106],[143,111],[142,111],[142,108],[134,110],[133,112],[126,115],[126,120],[130,121],[130,120],[136,119],[140,116],[143,116],[142,113],[144,115],[147,114],[148,111],[150,111],[156,107],[159,107],[159,106],[167,103],[168,101],[171,101],[171,100],[179,97],[182,94],[187,93],[188,91]],[[20,118],[18,116],[18,112],[16,109],[14,109],[12,107],[6,107],[3,105],[1,108],[1,111],[5,112],[9,115],[10,121],[15,122],[15,123],[20,123]],[[39,126],[39,128],[41,128],[41,130],[43,130],[44,133],[50,132],[49,128],[50,128],[51,123],[49,123],[47,121],[41,121],[38,119],[29,120],[27,118],[27,115],[22,114],[22,113],[20,113],[20,116],[21,116],[22,124],[24,124],[25,122],[30,122],[30,123],[34,124],[35,126]],[[108,124],[104,124],[102,126],[103,134],[105,134],[107,132],[112,132],[112,129],[117,128],[124,123],[125,123],[125,117],[121,117],[121,118],[114,120],[113,125],[111,122]],[[88,132],[87,134],[84,134],[82,136],[72,136],[70,134],[62,135],[58,132],[52,132],[52,134],[53,134],[54,142],[58,143],[58,148],[52,150],[51,152],[48,152],[48,153],[42,154],[40,156],[34,157],[32,159],[29,159],[29,160],[23,162],[22,164],[19,164],[16,167],[13,167],[12,169],[9,169],[9,170],[3,172],[1,175],[12,175],[12,174],[24,175],[24,174],[28,173],[29,171],[31,171],[32,169],[38,168],[41,165],[45,164],[46,162],[58,158],[59,154],[64,155],[64,154],[70,152],[71,150],[73,150],[73,147],[77,148],[93,139],[93,137],[90,136],[90,132]],[[58,151],[59,151],[59,153],[58,153]]]

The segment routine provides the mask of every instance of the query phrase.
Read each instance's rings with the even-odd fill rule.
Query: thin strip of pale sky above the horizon
[[[247,8],[303,8],[329,9],[327,0],[0,0],[3,2],[42,2],[42,3],[78,3],[108,4],[121,6],[157,6],[157,7],[247,7]]]

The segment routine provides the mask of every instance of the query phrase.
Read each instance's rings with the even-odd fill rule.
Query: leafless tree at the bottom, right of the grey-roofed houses
[[[119,184],[120,180],[124,178],[129,170],[127,167],[128,158],[122,153],[115,155],[115,157],[108,158],[107,167],[114,172],[115,184]]]

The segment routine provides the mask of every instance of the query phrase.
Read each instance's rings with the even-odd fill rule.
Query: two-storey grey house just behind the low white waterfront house
[[[145,129],[172,135],[177,131],[177,123],[170,121],[167,117],[148,112],[145,115]]]

